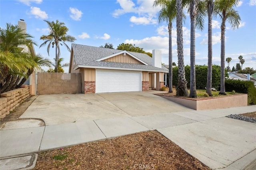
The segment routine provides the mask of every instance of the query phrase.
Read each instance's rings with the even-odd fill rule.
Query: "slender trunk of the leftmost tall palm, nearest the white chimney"
[[[172,22],[168,24],[169,32],[169,93],[172,93]]]

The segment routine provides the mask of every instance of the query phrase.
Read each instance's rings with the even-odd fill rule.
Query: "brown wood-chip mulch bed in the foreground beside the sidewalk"
[[[156,130],[40,152],[36,170],[210,170]]]

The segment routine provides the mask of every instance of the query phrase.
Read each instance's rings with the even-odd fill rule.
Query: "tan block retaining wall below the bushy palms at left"
[[[24,85],[22,88],[8,91],[1,94],[0,98],[0,119],[4,119],[9,115],[15,107],[20,105],[25,99],[30,96],[29,86]]]

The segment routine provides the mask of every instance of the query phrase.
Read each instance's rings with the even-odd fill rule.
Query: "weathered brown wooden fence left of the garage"
[[[80,73],[37,73],[37,95],[82,93]]]

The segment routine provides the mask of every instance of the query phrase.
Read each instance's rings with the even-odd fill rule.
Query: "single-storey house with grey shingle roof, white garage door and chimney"
[[[82,93],[160,90],[164,86],[161,51],[144,53],[72,44],[69,73],[82,74]]]

